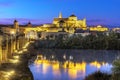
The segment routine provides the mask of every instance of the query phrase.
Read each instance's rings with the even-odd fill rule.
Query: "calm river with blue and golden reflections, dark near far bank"
[[[38,53],[29,65],[34,80],[83,80],[98,70],[111,73],[112,62],[120,56],[120,51],[106,50],[43,49]]]

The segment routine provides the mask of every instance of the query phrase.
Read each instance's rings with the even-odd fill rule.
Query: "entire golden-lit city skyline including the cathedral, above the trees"
[[[17,20],[14,21],[13,26],[2,27],[1,30],[4,33],[15,35],[25,34],[26,38],[38,39],[38,33],[41,35],[41,39],[46,39],[47,36],[54,35],[53,37],[63,34],[75,34],[80,33],[79,30],[83,31],[108,31],[108,28],[103,26],[87,27],[86,19],[79,20],[74,14],[68,18],[62,17],[62,13],[59,14],[58,18],[54,18],[51,24],[43,24],[39,26],[32,26],[30,22],[27,25],[21,26]],[[86,33],[82,33],[85,34]]]

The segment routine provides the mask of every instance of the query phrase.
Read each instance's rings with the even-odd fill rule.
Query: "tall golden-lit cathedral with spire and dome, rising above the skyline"
[[[74,14],[70,15],[68,18],[63,18],[62,13],[60,13],[58,18],[54,18],[53,24],[57,27],[81,28],[83,30],[87,29],[86,19],[78,20]]]

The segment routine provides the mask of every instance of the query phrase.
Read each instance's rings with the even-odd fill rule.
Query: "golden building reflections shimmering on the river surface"
[[[76,79],[78,76],[84,77],[86,73],[86,66],[87,66],[87,63],[84,61],[81,63],[79,62],[75,63],[73,61],[66,60],[61,63],[55,60],[47,60],[42,55],[39,55],[34,63],[35,65],[42,65],[43,74],[46,74],[48,72],[49,67],[52,67],[53,75],[60,76],[61,75],[60,69],[63,68],[64,72],[67,72],[68,76],[72,79]],[[106,65],[106,64],[107,63],[105,62],[100,63],[98,61],[93,61],[88,65],[96,67],[97,69],[100,69],[103,65]]]

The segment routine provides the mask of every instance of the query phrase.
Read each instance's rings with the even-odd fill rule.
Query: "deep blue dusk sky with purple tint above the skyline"
[[[59,12],[86,18],[88,25],[120,25],[120,0],[0,0],[0,24],[14,19],[20,24],[52,23]]]

